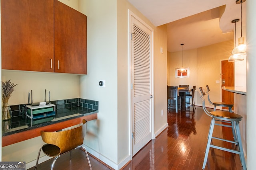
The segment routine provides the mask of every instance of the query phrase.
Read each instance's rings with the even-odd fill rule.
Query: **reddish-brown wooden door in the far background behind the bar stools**
[[[228,60],[221,62],[222,86],[234,86],[234,62]],[[234,93],[222,90],[222,102],[234,103]],[[228,107],[222,107],[228,109]],[[234,107],[232,107],[234,110]]]

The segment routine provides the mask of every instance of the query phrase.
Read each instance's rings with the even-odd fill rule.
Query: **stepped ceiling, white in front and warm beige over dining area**
[[[167,24],[167,51],[195,49],[234,38],[234,23],[240,19],[236,0],[128,0],[155,26]],[[146,4],[146,5],[145,5]],[[242,3],[245,25],[246,3]],[[238,29],[239,21],[236,23]],[[240,26],[239,26],[240,29]]]

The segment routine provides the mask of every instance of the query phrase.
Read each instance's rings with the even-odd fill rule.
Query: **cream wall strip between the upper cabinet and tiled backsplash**
[[[12,83],[18,84],[14,87],[9,105],[28,103],[28,92],[31,93],[31,90],[33,102],[44,101],[45,89],[46,100],[48,100],[48,91],[50,91],[50,100],[79,97],[79,76],[75,74],[2,70],[2,80],[11,80]]]

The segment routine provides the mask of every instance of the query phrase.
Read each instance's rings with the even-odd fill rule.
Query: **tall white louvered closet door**
[[[136,154],[152,139],[152,100],[150,33],[144,25],[132,20],[132,122],[133,153]]]

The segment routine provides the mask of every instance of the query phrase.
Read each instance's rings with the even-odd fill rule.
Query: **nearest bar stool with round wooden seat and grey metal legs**
[[[208,134],[208,142],[207,142],[207,146],[206,146],[206,151],[205,151],[205,156],[204,156],[204,162],[203,162],[202,169],[204,169],[205,166],[206,166],[210,148],[214,148],[214,149],[220,149],[220,150],[224,150],[224,151],[227,151],[227,152],[232,152],[232,153],[235,153],[235,154],[239,154],[242,167],[243,167],[244,170],[246,170],[246,162],[245,162],[245,158],[244,158],[244,151],[243,151],[243,147],[242,147],[242,140],[241,140],[240,129],[239,129],[239,121],[242,120],[242,116],[238,115],[236,113],[230,113],[228,111],[211,111],[211,112],[209,112],[206,109],[206,106],[205,106],[204,90],[202,89],[202,87],[200,87],[199,89],[200,89],[200,92],[202,94],[201,99],[202,99],[203,109],[204,109],[204,111],[207,115],[212,117],[212,121],[210,123],[210,130],[209,130],[209,134]],[[216,121],[231,122],[231,126],[230,125],[225,125],[225,124],[218,124],[218,123],[216,123]],[[233,135],[234,135],[234,141],[230,141],[230,140],[227,140],[227,139],[222,139],[222,138],[219,138],[219,137],[213,137],[212,133],[213,133],[214,125],[232,127],[232,132],[233,132]],[[212,139],[232,143],[234,145],[237,145],[238,149],[235,150],[235,149],[229,149],[229,148],[226,148],[226,147],[220,147],[218,145],[214,145],[213,143],[211,143]]]

